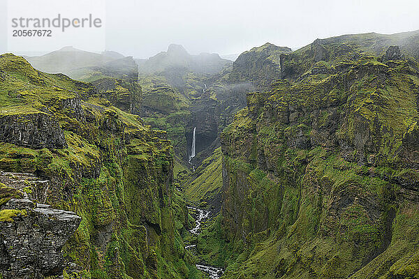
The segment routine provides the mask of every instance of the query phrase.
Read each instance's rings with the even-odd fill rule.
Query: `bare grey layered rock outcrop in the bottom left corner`
[[[8,191],[1,193],[7,195],[13,192],[13,188],[2,185],[1,190]],[[24,198],[9,199],[0,206],[2,278],[41,279],[45,276],[61,276],[69,264],[61,255],[61,248],[74,234],[81,218],[71,211],[51,209],[47,204],[36,204],[18,189],[10,197],[17,197],[16,193]]]

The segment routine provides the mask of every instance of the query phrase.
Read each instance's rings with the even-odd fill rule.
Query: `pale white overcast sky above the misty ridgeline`
[[[170,43],[184,45],[191,54],[236,54],[266,42],[296,49],[345,33],[419,29],[418,0],[103,1],[105,48],[136,58],[167,50]],[[0,32],[4,37],[1,27]]]

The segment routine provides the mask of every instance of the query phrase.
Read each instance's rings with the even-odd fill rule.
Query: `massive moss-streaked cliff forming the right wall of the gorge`
[[[418,63],[316,44],[224,130],[222,219],[202,237],[226,239],[198,249],[226,278],[414,278]]]

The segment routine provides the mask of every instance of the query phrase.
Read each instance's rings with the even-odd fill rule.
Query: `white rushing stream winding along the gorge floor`
[[[201,232],[201,224],[204,220],[208,219],[210,217],[211,211],[204,210],[204,209],[197,209],[196,207],[188,206],[188,209],[192,209],[196,211],[196,220],[195,220],[195,227],[193,227],[189,232],[191,234],[199,235]],[[196,244],[191,244],[188,246],[185,246],[185,249],[192,250],[196,249]],[[200,271],[203,271],[207,273],[208,276],[210,276],[210,279],[219,279],[223,275],[223,269],[219,267],[209,266],[203,262],[200,264],[196,264],[196,268]]]

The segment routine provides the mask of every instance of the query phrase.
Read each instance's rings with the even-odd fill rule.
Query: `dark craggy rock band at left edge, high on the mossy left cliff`
[[[58,121],[43,112],[1,116],[0,141],[36,149],[67,147]]]

